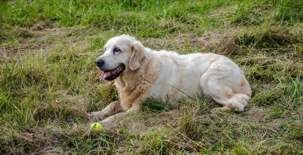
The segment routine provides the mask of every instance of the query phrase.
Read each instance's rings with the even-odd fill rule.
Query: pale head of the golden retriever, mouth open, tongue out
[[[101,81],[112,81],[125,71],[136,70],[146,59],[144,46],[125,34],[111,38],[104,50],[104,55],[95,60],[97,68],[104,71],[100,76]]]

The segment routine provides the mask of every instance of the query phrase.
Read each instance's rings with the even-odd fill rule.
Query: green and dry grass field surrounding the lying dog
[[[301,1],[0,2],[0,154],[303,154]],[[153,99],[100,132],[84,112],[117,99],[94,60],[130,34],[153,49],[225,55],[253,96]]]

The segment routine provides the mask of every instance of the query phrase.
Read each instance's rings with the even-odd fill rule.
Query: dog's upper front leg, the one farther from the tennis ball
[[[119,113],[122,111],[122,107],[120,105],[120,100],[116,100],[111,102],[105,109],[98,112],[92,112],[91,114],[87,114],[90,117],[97,117],[97,116],[110,116],[113,113]]]

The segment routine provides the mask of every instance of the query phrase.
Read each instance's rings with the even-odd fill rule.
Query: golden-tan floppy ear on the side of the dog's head
[[[138,69],[146,60],[144,54],[144,46],[139,42],[135,41],[131,45],[131,57],[129,60],[129,68],[131,70]]]

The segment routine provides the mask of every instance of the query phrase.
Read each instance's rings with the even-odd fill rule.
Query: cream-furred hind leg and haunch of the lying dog
[[[222,111],[243,111],[251,96],[251,89],[244,75],[230,76],[224,73],[214,74],[211,71],[207,71],[200,79],[204,93],[223,105],[219,108]]]

